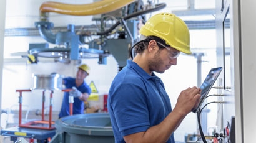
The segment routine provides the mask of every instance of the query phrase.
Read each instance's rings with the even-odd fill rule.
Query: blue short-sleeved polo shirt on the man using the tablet
[[[131,60],[112,81],[107,106],[116,142],[124,142],[123,136],[147,131],[172,111],[162,80]],[[167,142],[175,142],[173,134]]]

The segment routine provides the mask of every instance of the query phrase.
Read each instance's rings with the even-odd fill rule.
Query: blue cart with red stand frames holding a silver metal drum
[[[42,117],[41,119],[32,119],[29,122],[22,122],[22,101],[24,92],[31,92],[32,89],[18,89],[19,93],[19,124],[18,126],[12,126],[6,129],[2,129],[0,134],[2,136],[10,136],[11,141],[19,142],[18,138],[27,138],[29,142],[48,142],[56,134],[55,121],[52,119],[52,106],[53,106],[53,90],[62,89],[63,75],[52,73],[51,75],[33,75],[34,86],[33,90],[42,90]],[[46,90],[50,91],[49,96],[49,118],[44,116],[45,102],[46,102]]]

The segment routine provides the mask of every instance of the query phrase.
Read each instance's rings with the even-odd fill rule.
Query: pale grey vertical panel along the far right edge
[[[255,86],[256,86],[256,57],[255,57],[255,32],[256,32],[256,19],[250,17],[251,14],[256,12],[255,6],[256,1],[234,1],[236,6],[237,2],[240,2],[240,45],[234,45],[235,50],[241,50],[240,55],[240,84],[241,84],[241,95],[237,93],[236,98],[241,98],[242,100],[237,101],[237,104],[242,104],[240,109],[242,109],[242,130],[244,131],[244,142],[252,142],[255,139],[256,133],[256,114],[254,114],[254,109],[256,109],[256,96],[255,96]],[[235,11],[235,8],[234,8]],[[235,16],[235,15],[234,15]],[[234,18],[235,19],[235,18]],[[234,22],[235,23],[235,22]],[[238,25],[234,25],[237,27]],[[239,35],[237,35],[239,36]],[[237,39],[234,39],[237,40]],[[234,41],[234,44],[237,42]],[[239,78],[239,76],[237,76]],[[239,136],[239,135],[238,135]]]

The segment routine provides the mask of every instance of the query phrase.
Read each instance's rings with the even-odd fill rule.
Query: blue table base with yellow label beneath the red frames
[[[56,129],[31,129],[25,127],[10,127],[1,130],[1,136],[10,136],[11,141],[16,142],[18,137],[29,138],[31,142],[37,139],[37,142],[49,142],[56,134]]]

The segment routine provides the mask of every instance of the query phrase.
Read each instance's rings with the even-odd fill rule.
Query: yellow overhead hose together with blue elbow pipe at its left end
[[[56,34],[51,32],[54,26],[49,22],[49,12],[73,16],[89,16],[115,11],[121,7],[134,2],[135,0],[102,0],[91,4],[64,4],[60,2],[47,1],[40,6],[40,21],[35,25],[40,35],[52,44],[56,44]]]

